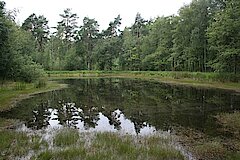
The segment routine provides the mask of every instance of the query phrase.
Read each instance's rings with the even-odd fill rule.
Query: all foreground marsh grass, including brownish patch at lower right
[[[221,160],[240,157],[239,151],[231,151],[222,139],[212,139],[193,130],[180,136],[196,159]],[[38,136],[10,130],[0,131],[2,159],[24,157],[34,151],[31,159],[38,160],[182,160],[185,157],[173,145],[171,136],[162,137],[122,135],[112,132],[79,133],[76,129],[60,129],[53,137],[53,146]],[[237,139],[236,139],[237,141]],[[230,142],[231,143],[231,142]],[[24,147],[23,147],[24,146]],[[239,148],[237,149],[239,150]],[[0,159],[1,159],[0,158]]]

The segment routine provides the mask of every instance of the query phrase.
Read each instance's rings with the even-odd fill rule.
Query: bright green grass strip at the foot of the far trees
[[[84,76],[151,76],[173,79],[194,79],[198,81],[240,82],[240,74],[213,72],[174,71],[47,71],[49,77]]]

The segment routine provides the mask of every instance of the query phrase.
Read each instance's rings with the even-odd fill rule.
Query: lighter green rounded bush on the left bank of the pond
[[[9,78],[32,82],[43,76],[41,66],[33,62],[31,58],[34,44],[29,34],[13,26],[9,45],[9,55],[12,57],[8,60],[9,70],[6,71]]]

